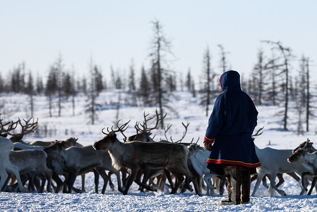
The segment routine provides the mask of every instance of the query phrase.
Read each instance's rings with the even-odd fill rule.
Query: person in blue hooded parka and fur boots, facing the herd
[[[245,204],[250,202],[251,174],[261,165],[251,137],[258,111],[241,90],[238,72],[224,72],[219,82],[223,93],[215,101],[203,141],[211,151],[207,167],[227,179],[228,200],[219,205]]]

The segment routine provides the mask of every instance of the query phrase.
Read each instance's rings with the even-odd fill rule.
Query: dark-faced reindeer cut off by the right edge
[[[287,159],[289,163],[299,162],[307,168],[307,172],[303,173],[302,176],[302,184],[305,186],[303,186],[304,188],[302,189],[301,194],[304,194],[307,187],[307,184],[304,183],[304,177],[306,176],[313,176],[308,195],[311,195],[314,187],[317,189],[317,150],[312,144],[313,143],[307,139],[307,141],[302,142],[295,150],[293,150],[292,154]]]

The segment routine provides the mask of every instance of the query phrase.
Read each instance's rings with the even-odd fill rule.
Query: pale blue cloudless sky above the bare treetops
[[[222,44],[231,67],[250,73],[260,40],[282,41],[300,58],[317,61],[317,1],[1,1],[0,71],[21,61],[27,70],[47,70],[61,53],[66,69],[87,73],[90,55],[109,73],[149,67],[151,21],[172,40],[171,69],[198,75],[207,45],[220,73]],[[269,52],[267,52],[269,54]],[[314,62],[315,63],[315,62]],[[293,71],[298,62],[293,62]],[[312,67],[312,71],[316,67]]]

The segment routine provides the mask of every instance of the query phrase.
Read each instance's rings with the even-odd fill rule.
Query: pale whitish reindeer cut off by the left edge
[[[1,115],[1,114],[0,114]],[[13,173],[17,179],[18,187],[21,192],[28,192],[28,189],[22,185],[19,169],[16,165],[13,165],[9,160],[10,151],[13,150],[13,143],[10,139],[7,139],[7,134],[14,130],[17,126],[18,121],[16,122],[8,122],[3,124],[0,118],[0,191],[6,188],[7,184],[5,184],[8,171]],[[5,129],[7,127],[7,129]]]

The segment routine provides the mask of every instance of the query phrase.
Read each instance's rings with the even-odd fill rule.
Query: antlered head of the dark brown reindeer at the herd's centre
[[[113,129],[114,126],[111,126],[111,131],[109,130],[109,128],[107,128],[108,133],[104,132],[103,131],[104,129],[102,129],[101,132],[103,134],[105,134],[105,137],[103,137],[101,140],[94,143],[93,147],[95,150],[107,151],[107,150],[111,149],[111,147],[114,146],[116,142],[120,142],[117,138],[116,133],[121,132],[123,134],[123,132],[128,128],[127,124],[130,122],[130,120],[121,126],[119,126],[119,121],[117,122],[118,130],[114,130]],[[123,134],[123,136],[124,136],[124,134]],[[126,140],[126,137],[124,140]]]

